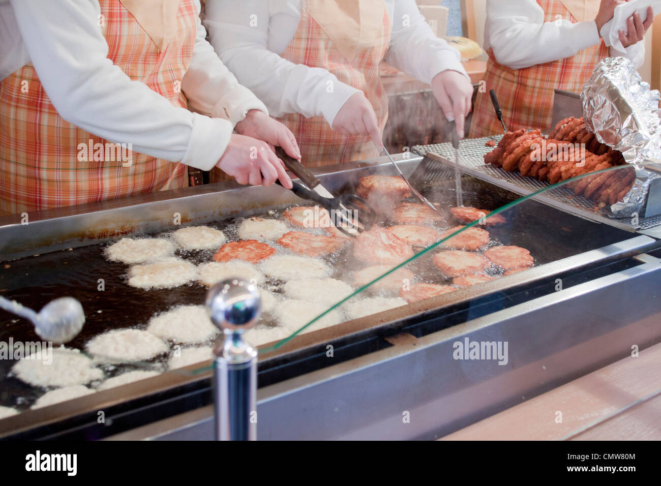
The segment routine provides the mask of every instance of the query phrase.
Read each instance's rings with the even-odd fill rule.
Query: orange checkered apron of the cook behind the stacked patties
[[[537,3],[544,9],[545,22],[557,19],[577,21],[559,0],[539,0]],[[584,49],[570,58],[524,69],[510,69],[498,64],[492,49],[489,49],[488,56],[486,88],[496,91],[508,130],[544,130],[551,128],[553,119],[553,89],[580,93],[592,75],[596,63],[608,57],[608,48],[602,40],[600,44]],[[500,133],[502,125],[496,118],[488,94],[479,93],[475,101],[469,137],[479,138]]]

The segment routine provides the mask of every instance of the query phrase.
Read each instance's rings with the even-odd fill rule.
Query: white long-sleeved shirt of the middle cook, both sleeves
[[[393,26],[385,61],[425,83],[446,70],[466,75],[459,52],[434,35],[414,0],[385,0],[385,8]],[[359,91],[327,69],[280,57],[300,20],[301,0],[207,0],[204,24],[223,63],[270,114],[323,116],[332,126],[344,102]]]

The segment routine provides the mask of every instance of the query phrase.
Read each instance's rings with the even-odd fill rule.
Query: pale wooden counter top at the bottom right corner
[[[661,344],[439,440],[661,440]]]

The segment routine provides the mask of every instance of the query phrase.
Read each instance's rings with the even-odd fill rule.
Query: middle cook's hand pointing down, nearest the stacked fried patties
[[[466,115],[473,104],[473,85],[457,71],[443,71],[432,79],[432,93],[440,104],[447,121],[455,122],[457,133],[463,138]]]

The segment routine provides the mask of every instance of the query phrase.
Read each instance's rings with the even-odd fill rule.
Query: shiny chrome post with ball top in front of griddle
[[[259,320],[259,291],[239,278],[223,280],[210,288],[206,307],[224,337],[214,349],[215,439],[256,440],[257,351],[243,333]]]

